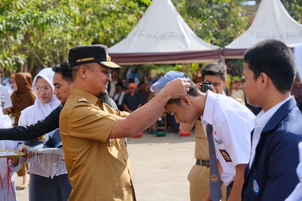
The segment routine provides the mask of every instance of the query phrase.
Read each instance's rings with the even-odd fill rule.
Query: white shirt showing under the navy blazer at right
[[[263,128],[265,127],[265,125],[267,124],[267,122],[271,119],[271,117],[276,113],[276,111],[289,99],[291,99],[293,97],[289,97],[287,99],[285,99],[282,102],[279,102],[277,105],[275,105],[274,107],[270,108],[268,111],[264,112],[263,110],[261,112],[259,112],[259,114],[256,116],[255,120],[254,120],[254,124],[255,124],[255,129],[254,129],[254,133],[253,133],[253,138],[252,138],[252,150],[251,150],[251,159],[249,161],[249,168],[251,168],[252,166],[252,162],[254,160],[255,157],[255,152],[256,152],[256,147],[258,145],[259,139],[260,139],[260,135],[262,133]]]

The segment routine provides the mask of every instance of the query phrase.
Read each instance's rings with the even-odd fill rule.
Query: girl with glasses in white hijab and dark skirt
[[[53,75],[51,68],[41,70],[33,81],[33,89],[37,95],[34,105],[21,111],[19,126],[30,125],[44,119],[50,114],[60,101],[53,95]],[[34,140],[25,141],[35,149],[52,148],[52,136],[59,135],[59,130],[54,130]],[[34,156],[37,161],[43,160],[45,155]],[[34,158],[33,158],[34,159]],[[28,165],[30,173],[29,200],[30,201],[59,201],[67,200],[72,187],[68,180],[68,174],[64,163],[64,168],[58,168],[55,163],[47,161],[45,164],[33,162]],[[24,162],[27,162],[24,159]]]

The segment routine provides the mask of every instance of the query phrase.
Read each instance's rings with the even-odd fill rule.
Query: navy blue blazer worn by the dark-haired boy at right
[[[243,201],[284,201],[299,183],[302,115],[296,104],[292,97],[281,105],[262,130],[251,169],[246,167]]]

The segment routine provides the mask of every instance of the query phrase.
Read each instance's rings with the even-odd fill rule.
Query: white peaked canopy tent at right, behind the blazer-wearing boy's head
[[[302,24],[294,20],[280,0],[262,0],[251,26],[228,46],[225,58],[243,58],[246,49],[265,39],[277,39],[291,48],[302,42]]]

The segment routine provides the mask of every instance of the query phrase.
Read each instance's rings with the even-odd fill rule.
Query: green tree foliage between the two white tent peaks
[[[184,20],[203,40],[225,46],[244,32],[248,18],[242,16],[244,0],[173,0]]]

